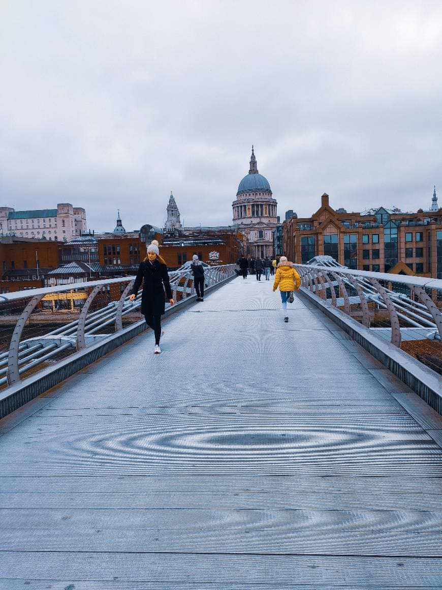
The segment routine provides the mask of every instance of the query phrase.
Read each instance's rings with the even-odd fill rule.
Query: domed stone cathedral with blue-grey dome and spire
[[[252,146],[249,173],[239,183],[236,201],[232,203],[233,223],[239,224],[246,235],[249,256],[273,256],[273,230],[279,223],[277,207],[269,181],[258,172]]]

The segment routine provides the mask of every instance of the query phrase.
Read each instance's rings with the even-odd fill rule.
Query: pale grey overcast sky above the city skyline
[[[0,0],[0,201],[88,227],[442,205],[442,2]]]

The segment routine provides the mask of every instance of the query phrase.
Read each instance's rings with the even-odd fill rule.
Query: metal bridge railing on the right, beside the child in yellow
[[[336,263],[295,268],[302,286],[316,297],[442,373],[442,280],[350,270]]]

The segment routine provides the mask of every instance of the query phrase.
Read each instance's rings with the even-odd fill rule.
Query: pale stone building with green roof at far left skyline
[[[70,203],[58,203],[57,209],[28,211],[0,207],[0,235],[66,242],[86,231],[85,210]]]

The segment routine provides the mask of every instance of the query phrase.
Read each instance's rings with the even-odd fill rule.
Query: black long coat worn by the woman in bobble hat
[[[137,277],[132,288],[134,295],[138,293],[142,281],[144,284],[141,296],[141,313],[145,316],[162,315],[166,304],[164,289],[166,289],[167,299],[172,299],[166,264],[161,264],[158,259],[153,264],[149,261],[142,262],[138,267]]]

